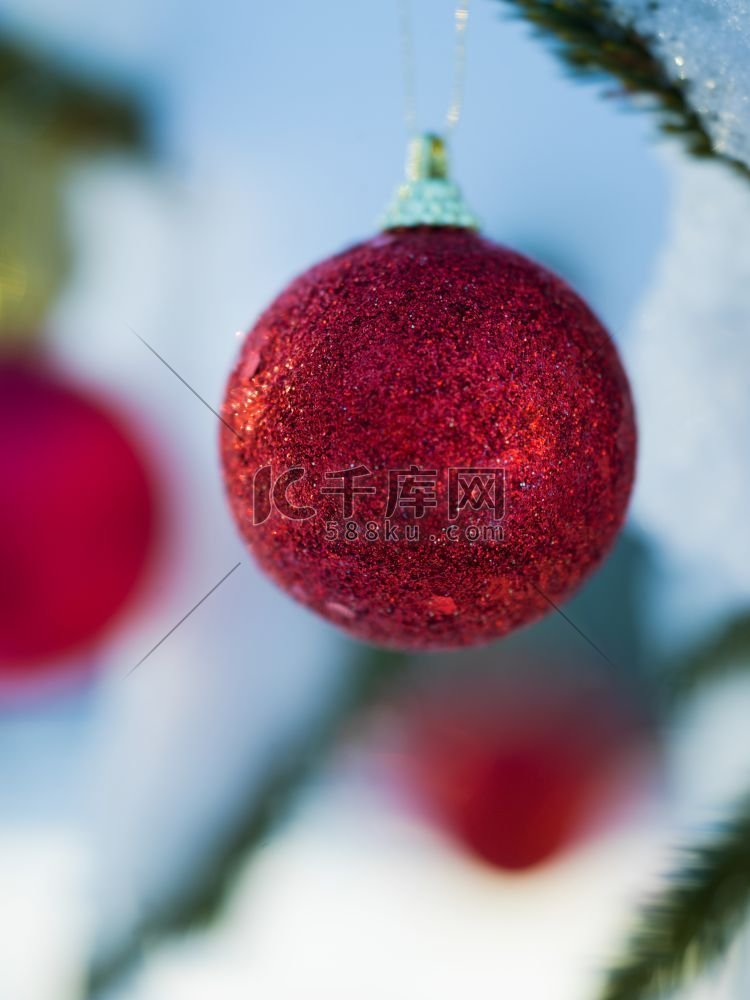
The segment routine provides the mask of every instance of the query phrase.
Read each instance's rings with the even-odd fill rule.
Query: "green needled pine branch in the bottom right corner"
[[[643,910],[599,1000],[646,1000],[688,985],[720,959],[750,906],[750,795],[715,840],[692,848]]]

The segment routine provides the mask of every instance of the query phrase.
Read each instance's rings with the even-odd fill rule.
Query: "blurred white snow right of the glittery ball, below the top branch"
[[[750,600],[750,183],[715,161],[672,165],[670,233],[625,354],[634,514],[681,578],[684,640]]]

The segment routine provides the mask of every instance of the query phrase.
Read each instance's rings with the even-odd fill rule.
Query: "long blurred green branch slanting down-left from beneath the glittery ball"
[[[177,899],[153,912],[119,949],[98,959],[90,969],[86,997],[93,998],[119,983],[142,956],[166,938],[215,921],[223,912],[238,872],[268,841],[288,815],[298,794],[325,763],[348,726],[364,709],[403,676],[406,657],[384,650],[366,650],[349,664],[347,678],[333,705],[312,732],[266,776],[247,811],[203,870]]]

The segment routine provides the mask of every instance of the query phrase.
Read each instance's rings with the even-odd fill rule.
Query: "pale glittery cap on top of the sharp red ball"
[[[458,185],[449,177],[445,140],[432,132],[409,142],[406,180],[399,185],[381,220],[382,229],[455,226],[478,229]]]

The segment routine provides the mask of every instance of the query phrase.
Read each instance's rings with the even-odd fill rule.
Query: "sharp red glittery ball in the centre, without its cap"
[[[248,335],[223,415],[227,492],[255,558],[381,645],[488,642],[539,618],[601,562],[632,485],[633,408],[606,331],[559,278],[465,230],[383,233],[303,274]],[[267,466],[304,470],[286,496],[314,517],[253,523]],[[321,488],[357,466],[375,492],[346,517]],[[389,470],[411,466],[437,473],[437,503],[399,506],[386,537]],[[450,470],[474,467],[502,470],[504,510],[467,504],[451,537]]]

